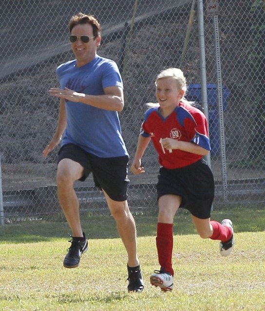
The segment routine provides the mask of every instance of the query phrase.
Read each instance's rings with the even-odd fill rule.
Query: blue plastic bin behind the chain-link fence
[[[226,86],[223,86],[223,108],[227,110],[227,97],[230,91]],[[209,117],[209,134],[211,142],[211,155],[218,155],[220,152],[220,135],[219,135],[219,110],[217,86],[215,84],[207,85],[208,97],[208,117]],[[188,101],[197,102],[202,105],[202,92],[200,84],[190,84],[186,98]]]

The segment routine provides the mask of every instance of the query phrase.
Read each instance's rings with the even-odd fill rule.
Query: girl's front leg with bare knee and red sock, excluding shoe
[[[163,195],[158,200],[159,213],[157,223],[156,247],[158,261],[165,272],[172,276],[172,249],[173,249],[173,220],[180,206],[181,197],[177,195]]]

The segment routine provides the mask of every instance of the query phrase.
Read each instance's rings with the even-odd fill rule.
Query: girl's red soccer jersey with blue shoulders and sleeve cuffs
[[[151,137],[159,155],[159,163],[167,169],[176,169],[197,162],[203,156],[173,149],[163,148],[163,138],[173,138],[193,142],[206,150],[211,150],[208,121],[201,110],[188,103],[180,102],[174,111],[164,118],[159,113],[160,107],[150,108],[145,112],[141,135]]]

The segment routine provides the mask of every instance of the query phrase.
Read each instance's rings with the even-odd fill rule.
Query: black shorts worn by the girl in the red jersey
[[[180,169],[161,167],[158,175],[157,198],[165,194],[182,197],[180,207],[187,208],[200,219],[210,217],[214,198],[214,179],[211,169],[200,160]]]

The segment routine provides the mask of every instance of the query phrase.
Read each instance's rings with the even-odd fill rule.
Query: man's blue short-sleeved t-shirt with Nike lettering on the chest
[[[98,55],[82,67],[76,67],[76,60],[66,62],[58,66],[56,73],[62,89],[67,87],[79,93],[104,95],[105,87],[123,87],[116,63]],[[65,106],[67,127],[62,146],[73,143],[98,157],[128,155],[117,111],[68,100]]]

